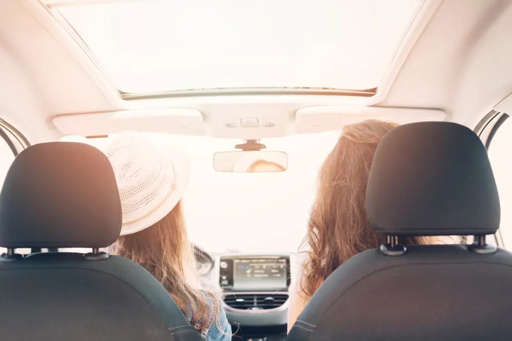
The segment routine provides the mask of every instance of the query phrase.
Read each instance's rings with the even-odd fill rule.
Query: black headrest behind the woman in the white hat
[[[114,171],[98,149],[51,142],[22,151],[0,193],[0,246],[106,247],[122,214]]]

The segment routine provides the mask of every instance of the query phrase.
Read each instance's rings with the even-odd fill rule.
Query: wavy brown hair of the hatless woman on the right
[[[318,189],[301,248],[308,247],[300,286],[311,297],[343,262],[387,242],[370,228],[366,185],[373,154],[396,123],[367,120],[343,128],[318,173]],[[405,244],[435,243],[436,237],[408,237]]]

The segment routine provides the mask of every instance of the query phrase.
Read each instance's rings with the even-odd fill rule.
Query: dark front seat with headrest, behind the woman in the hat
[[[11,165],[0,193],[2,340],[202,340],[144,268],[99,248],[121,231],[114,172],[80,143],[31,146]],[[34,253],[16,248],[87,247]]]

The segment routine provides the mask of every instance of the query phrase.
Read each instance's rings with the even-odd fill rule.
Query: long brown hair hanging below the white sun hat
[[[215,319],[215,325],[223,332],[216,295],[202,290],[214,299],[214,306],[210,307],[199,289],[189,282],[195,255],[188,244],[181,200],[165,217],[147,229],[119,237],[110,253],[131,259],[150,271],[185,316],[187,305],[190,304],[193,316],[191,325],[196,329],[207,328]]]

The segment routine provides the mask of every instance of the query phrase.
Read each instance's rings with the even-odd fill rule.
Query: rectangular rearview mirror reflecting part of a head
[[[284,151],[221,151],[214,154],[214,168],[218,172],[283,172],[288,168],[288,154]]]

